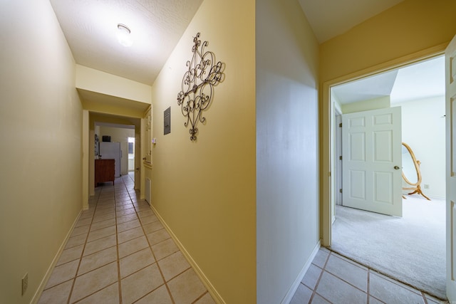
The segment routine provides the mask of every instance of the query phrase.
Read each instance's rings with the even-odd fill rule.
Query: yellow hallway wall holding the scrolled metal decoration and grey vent
[[[226,303],[256,301],[254,21],[254,1],[204,1],[152,85],[152,205]],[[226,68],[192,142],[177,93],[198,32]]]

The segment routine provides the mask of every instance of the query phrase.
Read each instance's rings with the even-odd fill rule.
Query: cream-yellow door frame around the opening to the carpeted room
[[[322,103],[320,112],[320,202],[321,202],[321,244],[322,246],[331,246],[331,224],[333,215],[334,202],[334,187],[333,177],[331,172],[334,172],[333,164],[333,103],[331,103],[331,88],[336,85],[348,83],[353,80],[366,78],[371,75],[400,68],[404,65],[418,63],[435,56],[441,56],[445,53],[447,43],[442,43],[439,46],[427,48],[418,53],[413,53],[393,61],[388,61],[380,65],[375,65],[371,68],[360,70],[356,73],[351,73],[334,80],[329,80],[323,83]]]

